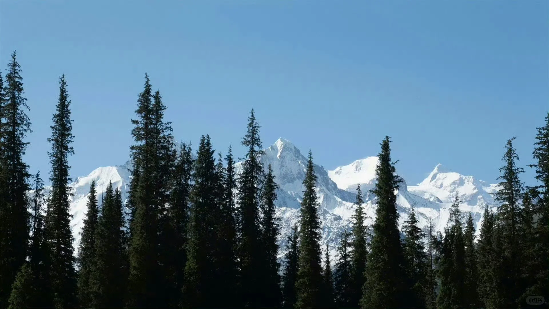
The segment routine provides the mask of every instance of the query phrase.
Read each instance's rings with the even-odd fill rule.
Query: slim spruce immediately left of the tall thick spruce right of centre
[[[367,249],[366,249],[366,236],[367,227],[364,224],[364,209],[362,204],[362,191],[360,190],[360,184],[356,188],[356,208],[353,215],[352,222],[352,240],[351,240],[351,260],[352,260],[352,308],[360,307],[360,298],[362,296],[362,286],[366,282],[365,270],[367,262]]]

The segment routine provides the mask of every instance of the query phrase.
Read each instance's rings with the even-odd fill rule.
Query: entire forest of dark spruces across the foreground
[[[35,102],[25,98],[23,73],[13,52],[0,74],[1,308],[547,308],[535,296],[549,299],[549,112],[534,164],[520,164],[514,137],[502,145],[500,206],[486,206],[479,233],[457,195],[444,233],[418,226],[413,208],[399,229],[401,178],[385,136],[374,223],[365,224],[359,185],[352,227],[330,256],[320,245],[311,152],[299,224],[279,248],[277,179],[260,161],[254,110],[242,124],[237,174],[238,156],[216,150],[209,135],[176,148],[167,106],[145,74],[128,132],[129,197],[112,184],[98,196],[92,183],[75,255],[70,79],[59,78],[46,195],[46,175],[24,162]],[[521,181],[525,168],[536,183]]]

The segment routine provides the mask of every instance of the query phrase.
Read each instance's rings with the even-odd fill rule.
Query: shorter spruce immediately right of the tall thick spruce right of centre
[[[406,279],[408,280],[408,308],[425,308],[425,292],[427,288],[427,254],[425,253],[425,245],[423,238],[425,235],[418,227],[418,219],[416,211],[412,206],[412,211],[408,215],[408,219],[402,226],[402,231],[405,234],[404,239],[404,256],[406,258]]]

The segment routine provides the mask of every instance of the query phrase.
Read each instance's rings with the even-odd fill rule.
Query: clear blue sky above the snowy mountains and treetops
[[[178,140],[210,134],[242,157],[254,107],[265,146],[284,137],[327,169],[376,155],[389,135],[409,183],[436,163],[494,182],[509,137],[531,163],[549,110],[548,16],[534,0],[1,0],[0,68],[16,49],[31,172],[49,172],[61,74],[71,174],[124,163],[146,71]]]

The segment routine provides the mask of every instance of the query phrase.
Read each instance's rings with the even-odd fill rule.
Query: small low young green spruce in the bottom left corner
[[[15,277],[12,293],[9,296],[9,308],[31,308],[36,304],[35,278],[29,263],[23,264]]]

